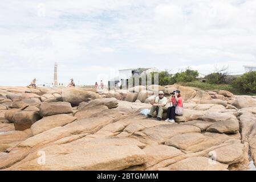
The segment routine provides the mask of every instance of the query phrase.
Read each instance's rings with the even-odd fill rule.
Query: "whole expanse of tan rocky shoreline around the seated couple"
[[[176,123],[140,115],[158,90],[175,89],[184,98]],[[180,85],[0,86],[1,170],[247,170],[250,158],[256,163],[255,96]]]

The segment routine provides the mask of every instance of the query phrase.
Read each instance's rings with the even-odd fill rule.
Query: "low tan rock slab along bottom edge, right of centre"
[[[219,162],[209,162],[206,157],[191,157],[180,160],[168,167],[169,170],[175,171],[227,171],[228,165]]]

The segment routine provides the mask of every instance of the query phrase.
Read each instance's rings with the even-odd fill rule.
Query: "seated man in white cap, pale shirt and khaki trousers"
[[[161,121],[162,113],[166,110],[165,105],[167,104],[167,98],[164,97],[164,92],[159,91],[159,96],[155,99],[155,104],[151,107],[151,110],[147,118],[152,118],[152,115],[157,111],[157,121]]]

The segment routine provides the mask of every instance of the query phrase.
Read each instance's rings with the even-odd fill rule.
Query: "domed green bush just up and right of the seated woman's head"
[[[191,82],[197,80],[198,71],[187,68],[186,71],[174,75],[175,82]]]

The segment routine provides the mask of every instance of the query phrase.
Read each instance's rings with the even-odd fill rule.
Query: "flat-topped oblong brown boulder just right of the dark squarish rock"
[[[45,117],[48,115],[55,115],[55,114],[68,114],[73,112],[71,104],[68,102],[52,102],[52,103],[43,102],[40,105],[39,110],[40,110],[40,115],[42,117]]]

